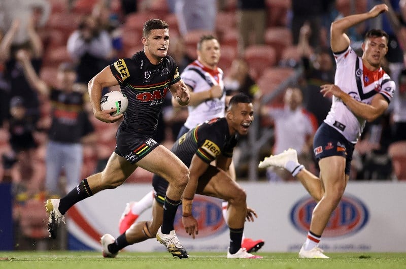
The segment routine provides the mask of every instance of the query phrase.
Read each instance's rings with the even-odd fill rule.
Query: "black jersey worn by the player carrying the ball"
[[[155,65],[148,60],[144,51],[140,51],[131,58],[115,61],[110,69],[128,98],[120,128],[142,135],[154,135],[168,87],[181,79],[175,60],[166,56]]]

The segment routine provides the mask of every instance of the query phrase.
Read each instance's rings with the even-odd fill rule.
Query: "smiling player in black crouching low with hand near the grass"
[[[245,219],[253,221],[256,213],[247,207],[245,191],[227,173],[233,148],[239,136],[247,135],[253,115],[251,99],[245,94],[237,94],[231,98],[225,117],[214,118],[192,128],[171,149],[190,170],[190,180],[182,199],[182,223],[193,239],[198,234],[192,209],[194,194],[228,201],[230,247],[227,258],[262,258],[241,247]],[[210,164],[212,161],[215,161],[215,166]],[[159,175],[154,175],[152,185],[155,190],[153,218],[134,223],[116,240],[111,234],[105,234],[101,238],[105,257],[115,257],[120,249],[155,236],[162,222],[163,195],[170,184]]]

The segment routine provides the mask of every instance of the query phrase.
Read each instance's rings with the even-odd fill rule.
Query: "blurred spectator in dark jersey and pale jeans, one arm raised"
[[[72,63],[58,66],[56,87],[41,80],[24,54],[20,54],[25,75],[32,87],[47,96],[52,106],[52,122],[48,130],[45,190],[49,195],[65,194],[58,188],[61,172],[66,175],[67,189],[77,185],[82,171],[83,145],[95,142],[94,128],[85,110],[87,94],[84,86],[75,83]]]

